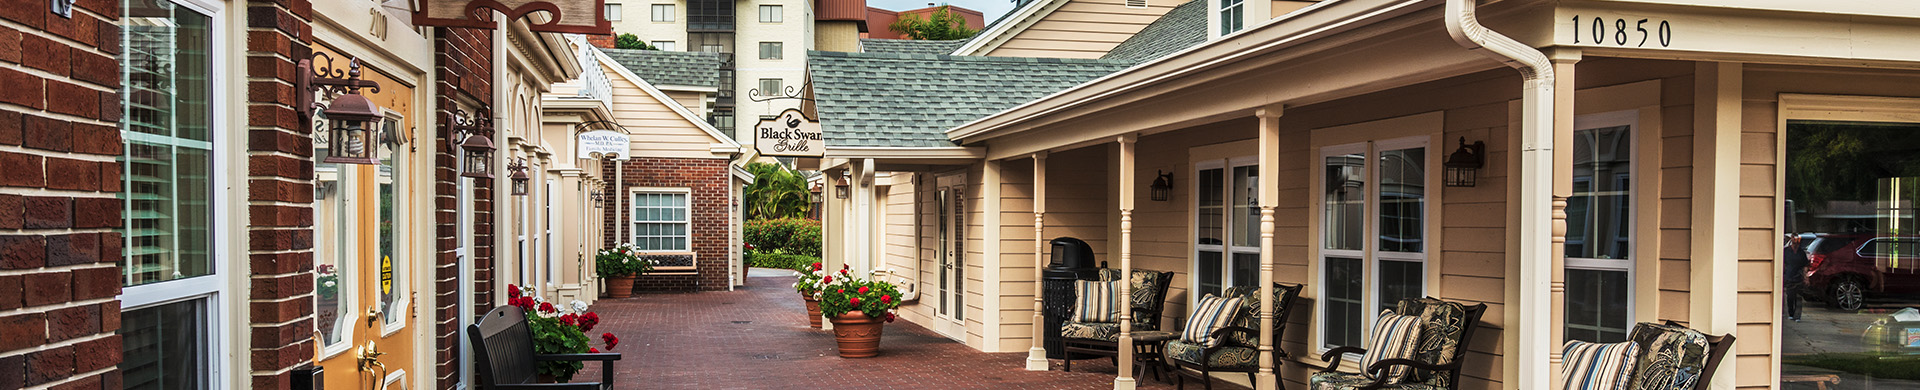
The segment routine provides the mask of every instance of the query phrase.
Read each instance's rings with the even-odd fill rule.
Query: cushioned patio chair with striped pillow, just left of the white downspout
[[[1459,388],[1461,361],[1467,357],[1467,346],[1473,342],[1473,330],[1478,327],[1480,315],[1486,313],[1486,304],[1463,305],[1438,298],[1407,298],[1400,300],[1400,309],[1394,313],[1419,315],[1421,319],[1421,340],[1413,348],[1413,359],[1380,359],[1371,367],[1361,367],[1365,373],[1340,373],[1336,371],[1340,367],[1340,357],[1346,353],[1367,353],[1367,350],[1357,346],[1332,348],[1321,355],[1321,359],[1327,361],[1327,369],[1313,373],[1308,380],[1308,388]],[[1394,365],[1411,367],[1411,373],[1398,382],[1388,382],[1388,377],[1382,373]]]

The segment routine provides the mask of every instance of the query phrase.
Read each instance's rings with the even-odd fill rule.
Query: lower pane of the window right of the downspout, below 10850
[[[1567,340],[1626,340],[1626,271],[1567,269]]]

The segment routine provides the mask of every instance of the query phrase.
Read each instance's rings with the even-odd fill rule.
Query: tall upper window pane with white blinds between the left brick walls
[[[125,284],[213,271],[211,17],[171,2],[129,4],[123,163]]]

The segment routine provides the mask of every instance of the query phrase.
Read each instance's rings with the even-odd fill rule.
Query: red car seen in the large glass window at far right
[[[1820,234],[1807,259],[1807,294],[1836,309],[1860,309],[1866,296],[1920,294],[1920,236]]]

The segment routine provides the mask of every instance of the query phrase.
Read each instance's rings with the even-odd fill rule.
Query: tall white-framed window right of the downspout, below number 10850
[[[1620,342],[1632,319],[1636,111],[1574,119],[1567,198],[1567,340]]]

